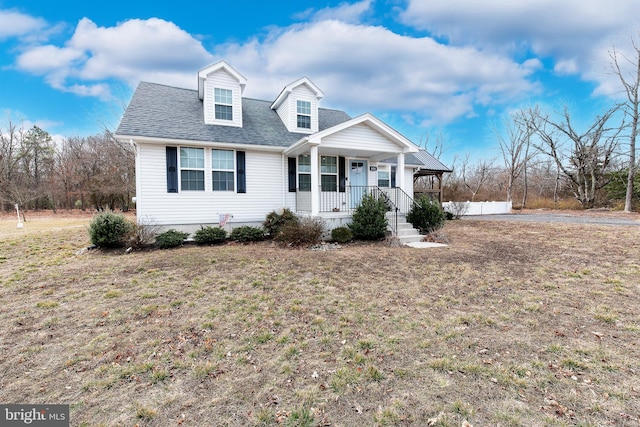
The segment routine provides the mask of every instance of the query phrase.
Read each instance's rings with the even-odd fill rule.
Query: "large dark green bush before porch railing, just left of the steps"
[[[387,202],[383,197],[365,194],[353,213],[348,225],[357,239],[375,240],[387,233]]]

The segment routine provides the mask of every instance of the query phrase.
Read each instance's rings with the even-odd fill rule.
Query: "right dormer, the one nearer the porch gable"
[[[271,104],[289,132],[318,132],[318,103],[324,93],[307,77],[285,86]]]

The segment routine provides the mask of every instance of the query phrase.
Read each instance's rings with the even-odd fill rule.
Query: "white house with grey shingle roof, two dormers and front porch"
[[[198,72],[197,90],[138,85],[116,137],[136,148],[139,221],[194,231],[259,225],[288,208],[336,227],[372,191],[402,214],[414,172],[448,171],[369,113],[321,108],[307,77],[272,101],[245,98],[247,84],[219,61]]]

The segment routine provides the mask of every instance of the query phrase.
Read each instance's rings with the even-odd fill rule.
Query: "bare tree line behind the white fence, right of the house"
[[[445,199],[506,198],[527,207],[531,197],[553,200],[556,206],[571,198],[585,209],[620,204],[631,212],[640,196],[640,47],[631,39],[631,48],[610,49],[609,59],[623,95],[620,102],[586,123],[577,123],[567,106],[549,112],[534,105],[512,112],[494,130],[501,158],[456,158],[454,172],[445,178]]]

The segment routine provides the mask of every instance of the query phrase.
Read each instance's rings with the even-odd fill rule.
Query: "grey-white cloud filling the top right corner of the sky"
[[[401,19],[454,45],[531,50],[555,60],[559,74],[593,74],[601,41],[637,24],[637,0],[408,0]]]

